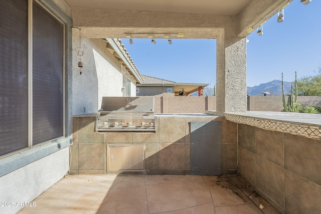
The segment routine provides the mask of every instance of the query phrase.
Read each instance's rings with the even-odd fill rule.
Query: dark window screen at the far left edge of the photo
[[[0,155],[28,146],[28,1],[0,1]]]

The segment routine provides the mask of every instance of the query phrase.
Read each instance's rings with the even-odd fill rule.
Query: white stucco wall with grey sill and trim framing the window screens
[[[65,24],[65,135],[41,146],[21,151],[0,159],[0,201],[30,202],[61,179],[69,167],[69,149],[72,144],[72,20],[70,8],[63,1],[61,9],[53,0],[38,0]],[[0,213],[15,213],[23,207],[0,207]]]

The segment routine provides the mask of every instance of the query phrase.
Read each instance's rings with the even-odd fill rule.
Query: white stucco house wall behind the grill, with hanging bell
[[[75,49],[79,47],[79,30],[73,28],[72,34]],[[130,80],[131,95],[135,96],[135,80],[108,51],[106,44],[101,39],[81,39],[81,46],[87,47],[81,57],[83,68],[78,67],[79,56],[73,51],[74,115],[98,112],[102,97],[121,97],[123,76]]]

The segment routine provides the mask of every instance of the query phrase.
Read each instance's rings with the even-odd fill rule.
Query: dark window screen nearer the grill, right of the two
[[[63,136],[63,25],[33,4],[33,145]]]

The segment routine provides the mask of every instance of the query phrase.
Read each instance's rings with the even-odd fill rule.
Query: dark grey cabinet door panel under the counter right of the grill
[[[191,122],[191,174],[222,174],[222,123]]]

